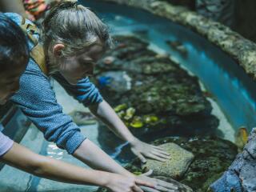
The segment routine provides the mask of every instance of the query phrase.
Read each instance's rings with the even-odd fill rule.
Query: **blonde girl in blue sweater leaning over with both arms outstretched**
[[[11,100],[21,107],[48,141],[55,142],[95,169],[130,176],[129,171],[85,138],[71,118],[63,114],[50,86],[49,75],[52,75],[120,138],[130,142],[131,150],[142,162],[146,162],[145,157],[163,162],[170,158],[162,148],[135,138],[89,81],[95,63],[110,46],[106,25],[92,11],[76,2],[59,3],[42,24],[42,46],[38,44],[39,34],[31,22],[24,21],[18,14],[6,15],[21,25],[31,40],[30,62],[22,75],[20,90]],[[152,178],[143,179],[153,181]],[[175,189],[170,183],[154,182],[160,186],[159,191]]]

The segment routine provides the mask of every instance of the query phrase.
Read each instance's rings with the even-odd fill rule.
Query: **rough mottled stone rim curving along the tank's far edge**
[[[189,27],[191,30],[202,34],[219,46],[227,54],[230,54],[240,66],[246,70],[253,78],[256,78],[256,45],[250,42],[242,35],[230,30],[218,22],[214,22],[209,18],[205,18],[194,11],[186,9],[183,6],[173,6],[169,2],[158,0],[102,0],[105,2],[118,2],[127,6],[134,6],[143,10],[147,10],[152,14],[156,14],[163,18],[168,18],[173,22],[177,22],[183,26]],[[214,36],[214,37],[213,37]],[[250,47],[245,49],[244,47]]]

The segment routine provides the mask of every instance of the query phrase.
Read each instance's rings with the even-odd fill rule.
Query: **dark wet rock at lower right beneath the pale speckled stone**
[[[159,138],[152,143],[154,145],[176,143],[178,146],[194,154],[193,162],[191,162],[182,178],[178,179],[178,182],[190,186],[196,192],[207,191],[210,184],[221,177],[222,173],[234,161],[238,151],[237,146],[232,142],[210,136],[203,138]],[[134,174],[142,174],[147,171],[146,169],[143,170],[138,159],[134,159],[127,164],[126,169]],[[171,179],[170,176],[162,178]],[[107,190],[100,189],[98,191]]]

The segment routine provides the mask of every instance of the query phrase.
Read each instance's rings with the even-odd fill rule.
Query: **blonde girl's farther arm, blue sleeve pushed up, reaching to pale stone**
[[[74,98],[82,102],[85,106],[89,106],[90,111],[100,118],[102,122],[105,122],[110,130],[117,134],[119,138],[129,142],[131,150],[142,162],[146,162],[144,156],[162,162],[166,162],[166,159],[170,158],[170,155],[160,147],[149,145],[135,138],[122,120],[118,118],[118,115],[115,114],[111,106],[103,100],[98,89],[90,82],[89,78],[80,80],[75,86],[70,85],[70,83],[62,77],[62,74],[54,74],[54,78],[65,88],[68,94],[73,95]]]

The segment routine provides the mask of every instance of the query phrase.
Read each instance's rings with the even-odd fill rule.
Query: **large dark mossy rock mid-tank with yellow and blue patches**
[[[111,106],[125,106],[116,112],[136,136],[216,131],[218,119],[198,78],[135,36],[115,36],[114,42],[98,62],[95,83]]]

